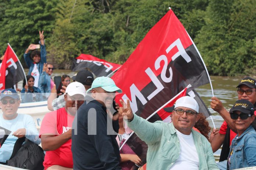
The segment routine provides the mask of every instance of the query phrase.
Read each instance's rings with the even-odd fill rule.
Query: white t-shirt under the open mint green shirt
[[[176,134],[179,139],[181,152],[170,170],[199,170],[199,158],[196,151],[196,146],[193,140],[193,134],[185,135],[176,129]],[[178,153],[177,153],[178,154]]]

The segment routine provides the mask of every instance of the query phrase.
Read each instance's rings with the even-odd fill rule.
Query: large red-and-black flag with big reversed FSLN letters
[[[113,75],[130,100],[132,111],[147,118],[191,84],[209,83],[205,64],[172,10],[149,30],[128,60]]]

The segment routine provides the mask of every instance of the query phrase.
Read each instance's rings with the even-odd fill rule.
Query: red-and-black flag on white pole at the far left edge
[[[0,64],[0,90],[12,88],[16,83],[24,80],[25,72],[19,59],[10,44],[4,53],[4,59]]]

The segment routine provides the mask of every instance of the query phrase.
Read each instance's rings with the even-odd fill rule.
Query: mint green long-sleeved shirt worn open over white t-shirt
[[[181,151],[173,123],[150,123],[134,114],[128,126],[148,145],[147,170],[169,170],[173,166]],[[209,141],[193,129],[192,134],[198,152],[199,170],[218,170]]]

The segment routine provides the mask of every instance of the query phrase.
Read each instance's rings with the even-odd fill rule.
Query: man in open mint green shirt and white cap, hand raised
[[[123,104],[123,101],[121,101]],[[209,141],[192,129],[199,120],[199,106],[190,96],[176,101],[173,122],[150,123],[120,107],[128,126],[148,145],[147,170],[218,170]]]

